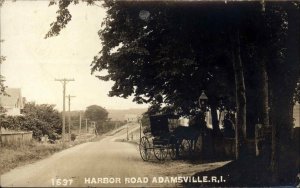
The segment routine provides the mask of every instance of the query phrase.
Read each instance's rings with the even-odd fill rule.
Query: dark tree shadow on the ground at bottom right
[[[288,162],[286,166],[290,166]],[[264,158],[247,156],[240,160],[229,162],[228,164],[210,171],[203,171],[194,174],[192,177],[203,179],[207,176],[217,177],[224,181],[220,182],[196,182],[183,183],[184,187],[262,187],[262,186],[296,186],[297,168],[286,170],[283,179],[276,182],[272,180],[272,173],[268,163]]]

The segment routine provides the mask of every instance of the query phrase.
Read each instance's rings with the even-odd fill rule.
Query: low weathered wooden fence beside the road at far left
[[[9,132],[1,133],[1,146],[6,145],[23,145],[32,140],[32,131],[30,132]]]

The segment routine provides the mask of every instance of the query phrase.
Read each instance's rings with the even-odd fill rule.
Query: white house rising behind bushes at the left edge
[[[24,108],[25,99],[22,97],[20,88],[6,88],[8,96],[0,96],[0,105],[6,110],[5,114],[9,116],[21,115]]]

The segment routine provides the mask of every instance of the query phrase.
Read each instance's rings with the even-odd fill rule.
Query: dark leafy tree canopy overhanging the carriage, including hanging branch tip
[[[78,3],[59,1],[57,21],[47,37],[59,34],[71,20],[67,7],[72,2]],[[250,62],[246,75],[254,77],[252,62],[259,61],[254,57],[265,47],[269,47],[266,53],[285,54],[287,8],[280,3],[267,3],[265,12],[259,2],[105,1],[103,6],[107,9],[105,28],[99,31],[103,49],[92,63],[92,72],[108,70],[98,77],[115,81],[110,96],[134,95],[137,103],[163,102],[185,114],[197,109],[203,89],[212,87],[207,91],[213,93],[210,99],[230,99],[234,89],[228,86],[233,86],[234,77],[228,52],[234,27],[241,32],[242,58]],[[255,84],[251,81],[255,79],[248,80]]]

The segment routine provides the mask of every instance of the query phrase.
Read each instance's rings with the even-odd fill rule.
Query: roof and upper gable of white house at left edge
[[[0,96],[0,105],[6,108],[23,108],[23,100],[20,88],[6,88],[8,96]]]

